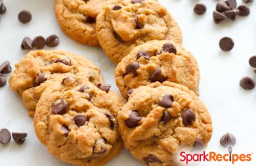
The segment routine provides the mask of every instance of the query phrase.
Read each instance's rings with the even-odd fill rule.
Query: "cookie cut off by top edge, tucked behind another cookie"
[[[55,14],[58,24],[75,41],[98,46],[95,20],[98,12],[109,1],[113,0],[56,0]]]

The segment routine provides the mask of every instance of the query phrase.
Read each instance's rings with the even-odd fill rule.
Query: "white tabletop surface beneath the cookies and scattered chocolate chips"
[[[253,69],[247,61],[256,54],[256,2],[251,4],[248,17],[238,17],[236,22],[230,20],[215,25],[212,12],[216,1],[201,1],[207,5],[203,16],[196,16],[193,7],[196,2],[188,0],[160,0],[171,11],[181,26],[184,46],[194,54],[200,65],[202,76],[200,82],[200,98],[209,108],[213,118],[213,137],[208,150],[227,152],[219,145],[220,137],[230,132],[236,136],[237,144],[234,151],[245,153],[256,152],[256,90],[245,91],[239,86],[240,78],[252,76]],[[26,55],[20,50],[20,43],[26,36],[47,37],[56,34],[60,37],[60,45],[56,49],[68,50],[74,54],[85,55],[102,70],[106,83],[114,82],[115,65],[100,48],[84,46],[72,41],[60,31],[53,11],[53,0],[4,0],[7,13],[0,15],[0,63],[10,60],[14,64]],[[238,0],[242,3],[242,0]],[[17,16],[20,10],[27,9],[33,14],[32,22],[21,24]],[[230,36],[235,41],[234,49],[224,53],[219,50],[219,39]],[[49,48],[46,48],[49,49]],[[0,88],[0,128],[7,127],[10,131],[26,131],[28,138],[22,146],[12,141],[9,145],[0,145],[0,165],[68,165],[48,154],[47,149],[37,141],[33,132],[32,118],[22,105],[20,95],[13,93],[9,85]],[[256,165],[253,155],[250,163],[240,165]],[[108,165],[142,165],[127,150],[108,163]],[[216,165],[215,163],[214,165]],[[228,165],[230,163],[226,163]],[[196,164],[199,165],[199,164]],[[202,164],[201,164],[202,165]],[[213,165],[204,163],[203,165]],[[219,164],[218,164],[219,165]],[[231,164],[230,164],[231,165]]]

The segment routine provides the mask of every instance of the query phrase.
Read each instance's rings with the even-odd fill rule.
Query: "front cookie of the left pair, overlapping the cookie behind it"
[[[104,165],[122,149],[116,120],[123,100],[108,85],[75,77],[54,82],[35,111],[35,133],[49,152],[77,166]]]

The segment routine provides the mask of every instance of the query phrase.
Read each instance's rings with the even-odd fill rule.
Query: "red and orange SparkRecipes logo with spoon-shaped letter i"
[[[226,154],[219,154],[216,152],[205,152],[203,151],[200,154],[190,154],[186,152],[180,153],[180,161],[186,162],[186,164],[190,162],[200,162],[200,161],[226,161],[231,162],[234,164],[236,161],[251,161],[251,154],[236,154],[233,152],[233,149],[230,147],[228,148],[228,153]]]

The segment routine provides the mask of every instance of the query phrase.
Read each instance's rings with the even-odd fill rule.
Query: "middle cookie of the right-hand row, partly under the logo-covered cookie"
[[[126,99],[139,86],[165,80],[198,93],[198,63],[190,52],[173,41],[152,41],[137,46],[116,67],[116,84]]]

